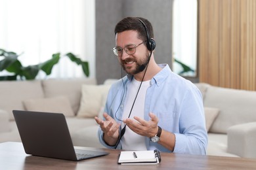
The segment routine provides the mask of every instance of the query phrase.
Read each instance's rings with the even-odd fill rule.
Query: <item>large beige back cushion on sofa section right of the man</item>
[[[213,133],[227,133],[230,126],[256,121],[256,92],[253,91],[209,86],[204,106],[220,110],[209,129]]]

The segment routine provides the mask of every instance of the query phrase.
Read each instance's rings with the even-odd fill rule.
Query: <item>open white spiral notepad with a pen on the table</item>
[[[158,150],[121,151],[119,164],[157,164],[160,163],[161,156]]]

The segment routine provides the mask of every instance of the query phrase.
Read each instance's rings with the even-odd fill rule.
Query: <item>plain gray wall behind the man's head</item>
[[[171,66],[171,23],[173,0],[96,0],[96,79],[121,78],[121,66],[114,56],[114,27],[126,16],[148,19],[154,28],[157,63]]]

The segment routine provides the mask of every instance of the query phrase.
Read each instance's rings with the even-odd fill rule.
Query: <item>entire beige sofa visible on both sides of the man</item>
[[[0,143],[20,141],[13,109],[48,110],[65,114],[75,146],[103,147],[93,117],[102,116],[114,81],[100,85],[95,79],[0,82]],[[207,154],[256,158],[256,92],[196,86],[205,106]]]

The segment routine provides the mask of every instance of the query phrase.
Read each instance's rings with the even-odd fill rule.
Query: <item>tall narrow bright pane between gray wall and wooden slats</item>
[[[196,76],[197,0],[173,3],[173,71],[182,76]]]

